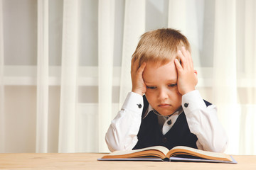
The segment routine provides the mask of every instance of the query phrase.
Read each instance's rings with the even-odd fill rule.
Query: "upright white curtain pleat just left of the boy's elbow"
[[[105,133],[112,120],[112,80],[114,50],[114,0],[99,1],[99,151],[107,152]]]

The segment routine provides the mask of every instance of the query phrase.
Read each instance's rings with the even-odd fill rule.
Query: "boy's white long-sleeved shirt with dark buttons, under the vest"
[[[182,96],[183,110],[177,111],[169,118],[160,118],[163,135],[174,125],[178,115],[184,111],[191,133],[198,138],[198,149],[210,152],[224,152],[228,137],[217,118],[217,108],[214,105],[206,107],[199,91],[191,91]],[[148,113],[153,108],[149,105]],[[105,140],[111,152],[115,150],[132,149],[138,142],[137,134],[142,120],[143,97],[130,92],[124,101],[121,111],[112,120],[107,130]],[[147,114],[146,114],[147,115]],[[146,117],[146,115],[144,117]],[[168,121],[171,120],[171,125]]]

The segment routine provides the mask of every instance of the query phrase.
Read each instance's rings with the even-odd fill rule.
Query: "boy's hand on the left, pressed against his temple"
[[[132,76],[132,92],[140,94],[143,96],[143,94],[146,92],[146,85],[144,84],[144,80],[142,78],[142,73],[146,67],[146,62],[144,62],[139,67],[139,61],[134,61],[134,58],[132,59],[132,67],[131,67],[131,76]]]

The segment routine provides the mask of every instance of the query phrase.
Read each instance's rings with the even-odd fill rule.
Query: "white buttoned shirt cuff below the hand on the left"
[[[127,98],[125,98],[122,109],[142,114],[143,106],[143,97],[134,92],[129,92]]]

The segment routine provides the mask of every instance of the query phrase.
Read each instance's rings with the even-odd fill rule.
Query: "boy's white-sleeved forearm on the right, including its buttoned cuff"
[[[224,152],[228,137],[217,118],[214,105],[206,107],[198,91],[183,96],[183,110],[188,126],[198,137],[198,148],[211,152]]]

